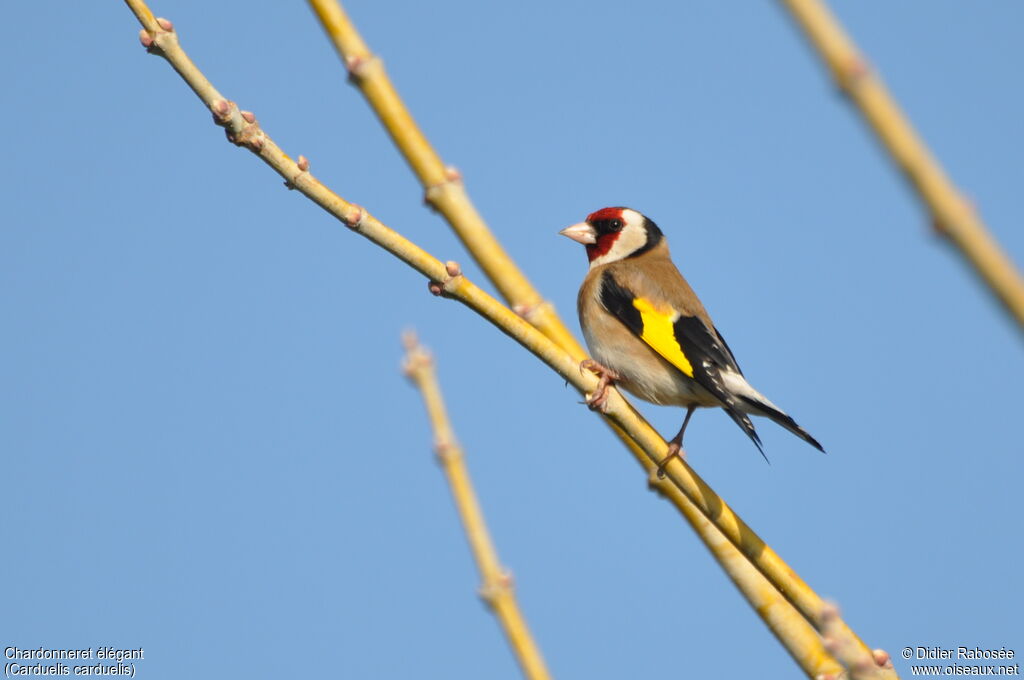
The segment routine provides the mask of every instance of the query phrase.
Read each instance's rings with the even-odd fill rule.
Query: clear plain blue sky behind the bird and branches
[[[1024,262],[1024,8],[833,4]],[[573,329],[586,260],[557,230],[658,222],[829,452],[759,422],[765,465],[699,412],[689,460],[854,630],[1024,651],[1021,332],[780,6],[346,6]],[[304,3],[153,7],[287,152],[484,283]],[[143,647],[146,678],[518,677],[398,372],[415,327],[556,677],[796,677],[574,392],[224,143],[137,31],[117,2],[0,28],[5,646]]]

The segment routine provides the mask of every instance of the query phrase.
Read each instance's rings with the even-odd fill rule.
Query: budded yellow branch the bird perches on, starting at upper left
[[[206,107],[214,121],[224,127],[227,138],[258,156],[286,184],[321,206],[346,226],[384,248],[389,253],[424,274],[431,282],[431,291],[454,298],[486,318],[500,331],[518,342],[558,373],[566,382],[587,394],[597,386],[597,378],[579,370],[579,362],[556,345],[518,314],[503,305],[462,275],[455,262],[443,263],[400,233],[385,226],[364,208],[351,204],[325,186],[309,172],[309,162],[302,156],[293,161],[260,128],[251,112],[240,111],[225,99],[200,72],[178,43],[177,34],[167,19],[154,19],[142,0],[125,0],[144,27],[140,40],[146,49],[163,56],[188,84]],[[631,451],[652,473],[668,454],[668,444],[658,433],[615,390],[607,399],[607,417],[636,445]],[[757,534],[751,529],[692,468],[678,458],[666,469],[667,475],[655,484],[672,498],[681,492],[732,543],[739,552],[781,593],[816,630],[822,630],[824,602]],[[842,621],[834,624],[836,635],[851,641],[858,650],[866,650],[863,642]],[[840,660],[843,662],[844,660]],[[893,678],[895,674],[879,670],[878,677]]]

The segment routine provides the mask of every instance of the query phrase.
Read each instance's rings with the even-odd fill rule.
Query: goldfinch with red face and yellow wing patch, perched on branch
[[[686,408],[658,476],[680,456],[698,407],[725,411],[766,461],[752,415],[774,421],[824,453],[817,439],[743,377],[653,220],[630,208],[602,208],[559,233],[586,246],[590,262],[577,310],[592,358],[580,369],[599,380],[586,403],[603,411],[607,388],[615,384],[646,401]]]

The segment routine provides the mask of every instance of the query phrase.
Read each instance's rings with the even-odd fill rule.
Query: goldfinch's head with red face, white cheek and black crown
[[[636,257],[662,241],[657,224],[629,208],[602,208],[559,233],[587,247],[591,268]]]

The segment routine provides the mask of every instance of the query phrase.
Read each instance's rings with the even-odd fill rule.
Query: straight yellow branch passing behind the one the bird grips
[[[445,167],[427,140],[388,78],[381,58],[370,51],[341,4],[336,0],[309,0],[309,4],[345,62],[352,82],[362,92],[395,146],[420,179],[428,202],[452,225],[509,306],[523,313],[527,321],[574,358],[583,359],[586,356],[584,349],[550,304],[538,304],[542,296],[501,248],[469,200],[458,173]],[[612,429],[631,447],[634,456],[649,474],[652,468],[643,453],[620,430],[614,427]],[[839,664],[824,650],[818,635],[778,591],[746,562],[684,495],[676,488],[664,491],[755,612],[764,620],[808,676],[816,678],[838,673]]]

